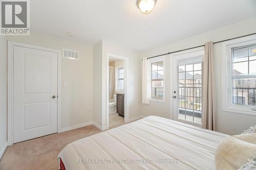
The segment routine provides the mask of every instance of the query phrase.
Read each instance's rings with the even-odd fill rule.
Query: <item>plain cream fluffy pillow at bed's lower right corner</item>
[[[238,170],[256,155],[256,133],[229,136],[215,153],[216,169]],[[249,161],[248,163],[251,163]],[[245,165],[246,166],[246,165]]]

